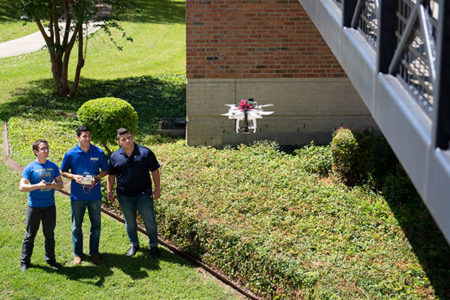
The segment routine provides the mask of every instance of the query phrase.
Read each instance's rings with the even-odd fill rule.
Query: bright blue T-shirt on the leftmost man
[[[22,178],[28,179],[31,184],[39,183],[42,180],[53,182],[53,179],[58,176],[60,176],[58,166],[49,160],[45,164],[33,161],[22,172]],[[29,192],[28,205],[31,207],[49,207],[55,205],[55,190],[38,189]]]

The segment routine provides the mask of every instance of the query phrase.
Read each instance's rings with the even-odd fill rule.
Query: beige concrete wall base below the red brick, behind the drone
[[[281,145],[327,143],[340,126],[372,129],[376,124],[346,78],[188,79],[187,143],[236,145],[274,140]],[[273,115],[258,120],[257,133],[237,134],[235,120],[221,114],[225,104],[254,98],[274,104]],[[242,124],[242,122],[241,122]]]

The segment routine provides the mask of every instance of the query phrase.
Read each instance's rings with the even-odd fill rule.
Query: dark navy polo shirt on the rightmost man
[[[124,196],[151,193],[150,172],[158,170],[159,167],[155,154],[136,143],[130,157],[123,151],[123,147],[120,147],[109,159],[109,174],[116,175],[117,193]]]

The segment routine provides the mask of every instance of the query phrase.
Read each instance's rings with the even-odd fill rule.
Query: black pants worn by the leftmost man
[[[53,231],[56,225],[56,207],[27,207],[27,232],[22,244],[21,263],[29,264],[33,254],[34,238],[42,220],[42,231],[45,237],[45,261],[55,262],[55,236]]]

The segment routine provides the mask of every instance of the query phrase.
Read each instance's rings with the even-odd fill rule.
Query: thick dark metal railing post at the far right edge
[[[439,1],[437,76],[433,103],[433,145],[448,149],[450,142],[450,3]]]

